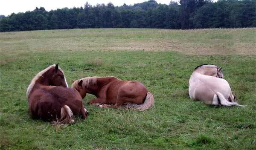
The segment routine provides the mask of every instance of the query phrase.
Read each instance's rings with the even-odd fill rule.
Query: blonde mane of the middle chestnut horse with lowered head
[[[74,87],[76,84],[79,83],[79,81],[83,81],[82,83],[82,87],[85,87],[86,89],[89,88],[90,86],[96,86],[97,85],[97,78],[116,78],[114,76],[109,76],[109,77],[85,77],[85,78],[81,78],[79,80],[76,80],[73,84],[72,87]],[[118,78],[116,78],[118,79]],[[119,80],[119,79],[118,79]]]

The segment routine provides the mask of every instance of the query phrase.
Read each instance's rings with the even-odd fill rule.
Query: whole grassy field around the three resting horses
[[[0,149],[256,149],[256,29],[72,29],[0,33]],[[155,108],[100,109],[75,124],[32,120],[26,88],[58,63],[68,84],[86,76],[142,82]],[[203,63],[223,67],[239,104],[192,101],[188,81]]]

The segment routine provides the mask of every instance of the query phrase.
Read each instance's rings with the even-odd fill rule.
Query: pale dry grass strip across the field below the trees
[[[37,51],[177,51],[190,55],[256,55],[256,30],[70,29],[1,32],[2,55]]]

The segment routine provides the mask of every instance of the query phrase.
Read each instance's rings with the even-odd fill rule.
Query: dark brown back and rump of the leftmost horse
[[[82,98],[73,88],[49,87],[34,90],[29,96],[29,110],[32,118],[56,120],[60,118],[61,107],[67,105],[74,115],[79,114]]]

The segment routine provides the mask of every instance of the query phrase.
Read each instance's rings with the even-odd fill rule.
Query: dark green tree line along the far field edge
[[[180,0],[169,5],[149,0],[127,6],[112,3],[47,12],[0,15],[0,32],[74,28],[243,28],[256,27],[256,0]]]

